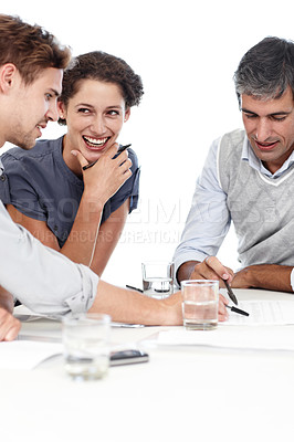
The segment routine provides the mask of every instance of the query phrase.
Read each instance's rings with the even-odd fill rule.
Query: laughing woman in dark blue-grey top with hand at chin
[[[59,123],[67,133],[1,156],[9,189],[0,181],[0,199],[12,220],[99,276],[138,202],[136,154],[128,149],[116,161],[113,157],[141,95],[140,77],[122,59],[99,51],[78,55],[64,72],[57,101]],[[83,170],[83,159],[94,166]]]

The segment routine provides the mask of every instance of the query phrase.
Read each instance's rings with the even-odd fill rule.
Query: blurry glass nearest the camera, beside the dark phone
[[[109,367],[111,317],[77,314],[63,317],[63,351],[66,372],[77,380],[103,378]]]

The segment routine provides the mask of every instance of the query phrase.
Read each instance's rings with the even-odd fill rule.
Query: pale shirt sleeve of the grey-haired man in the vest
[[[203,261],[216,256],[231,223],[227,193],[218,179],[219,140],[213,141],[204,167],[197,179],[192,206],[176,249],[175,271],[187,261]]]

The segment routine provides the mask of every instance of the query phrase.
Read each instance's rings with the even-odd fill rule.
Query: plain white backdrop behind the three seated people
[[[9,3],[9,4],[8,4]],[[169,260],[212,139],[241,126],[232,76],[264,36],[294,39],[293,0],[10,0],[1,12],[38,23],[73,54],[102,50],[138,73],[145,95],[120,135],[141,166],[140,201],[103,278],[140,284],[144,260]],[[43,138],[62,134],[50,124]],[[8,148],[8,146],[4,146]],[[235,239],[220,253],[237,269]]]

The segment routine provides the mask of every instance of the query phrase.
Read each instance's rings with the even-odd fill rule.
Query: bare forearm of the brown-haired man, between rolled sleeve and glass
[[[182,325],[181,293],[177,292],[166,299],[154,299],[99,281],[90,313],[105,313],[119,323]]]

